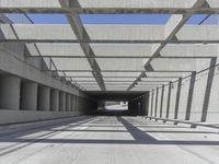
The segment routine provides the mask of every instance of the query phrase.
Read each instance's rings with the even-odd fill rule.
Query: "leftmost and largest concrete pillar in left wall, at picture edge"
[[[21,79],[7,74],[0,77],[0,109],[20,108]]]

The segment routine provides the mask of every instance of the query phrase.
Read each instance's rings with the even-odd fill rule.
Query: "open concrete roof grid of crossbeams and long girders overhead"
[[[84,91],[148,91],[212,67],[218,0],[0,0],[1,13],[61,13],[69,24],[0,24],[0,42],[25,43],[59,78]],[[166,24],[83,24],[80,14],[171,14]]]

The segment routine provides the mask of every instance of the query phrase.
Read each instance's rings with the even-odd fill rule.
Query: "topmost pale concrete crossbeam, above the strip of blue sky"
[[[195,0],[80,0],[76,3],[68,0],[68,8],[61,8],[59,0],[0,0],[1,13],[219,13],[219,2],[208,0],[209,8],[205,5],[194,9]]]

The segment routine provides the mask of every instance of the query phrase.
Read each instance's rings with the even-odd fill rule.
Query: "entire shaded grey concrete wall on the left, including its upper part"
[[[1,125],[70,117],[96,110],[96,102],[84,93],[65,80],[53,78],[54,73],[42,71],[48,65],[42,59],[28,58],[28,50],[24,44],[0,43]],[[31,50],[34,50],[33,47]]]

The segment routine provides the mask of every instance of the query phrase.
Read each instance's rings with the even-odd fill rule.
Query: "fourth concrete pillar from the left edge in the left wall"
[[[50,90],[50,110],[58,112],[59,110],[59,91]]]

